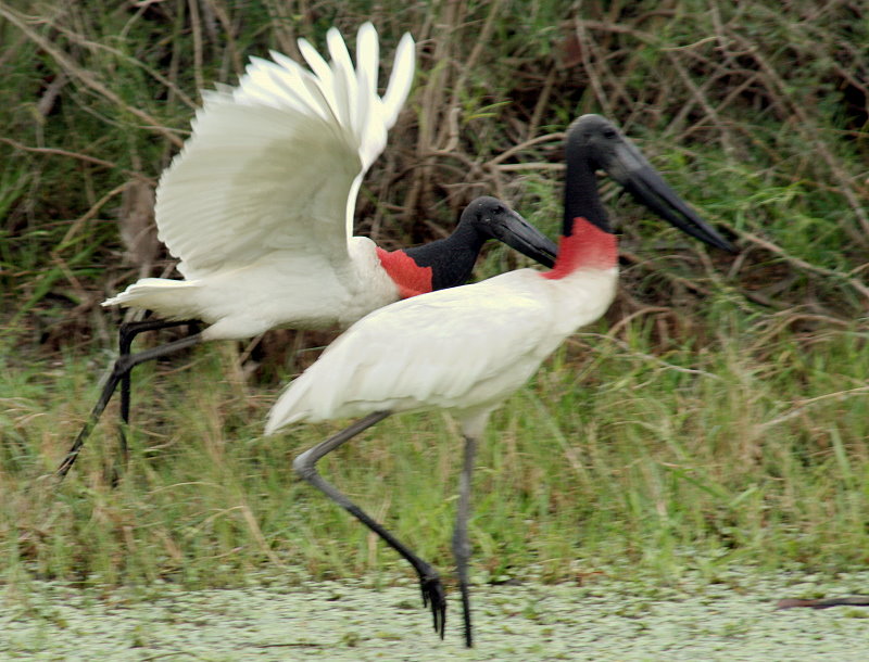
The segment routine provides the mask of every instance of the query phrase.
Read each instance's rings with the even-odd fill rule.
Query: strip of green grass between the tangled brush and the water
[[[653,321],[579,333],[494,416],[475,480],[475,573],[564,581],[616,565],[672,580],[731,564],[864,564],[865,334],[813,338],[807,354],[786,328],[722,318],[720,346],[659,353]],[[292,474],[294,455],[340,423],[264,438],[275,393],[227,380],[228,348],[138,374],[133,457],[114,489],[111,416],[63,484],[37,478],[96,396],[80,359],[4,382],[15,442],[0,473],[7,577],[221,586],[263,568],[410,572]],[[322,467],[446,570],[459,458],[455,423],[431,412],[387,419]]]

